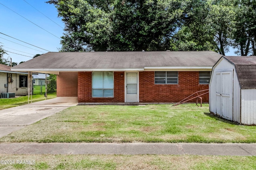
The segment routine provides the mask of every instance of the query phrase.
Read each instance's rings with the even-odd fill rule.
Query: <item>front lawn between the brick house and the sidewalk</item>
[[[0,142],[256,143],[255,126],[211,115],[208,104],[74,106]]]

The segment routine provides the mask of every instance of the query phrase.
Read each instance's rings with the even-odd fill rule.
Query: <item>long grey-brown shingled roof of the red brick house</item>
[[[221,55],[214,51],[49,52],[12,70],[82,71],[110,68],[212,67]]]

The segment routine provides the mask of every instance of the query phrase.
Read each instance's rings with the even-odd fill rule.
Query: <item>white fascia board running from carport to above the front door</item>
[[[143,71],[144,68],[14,68],[14,71],[83,72],[83,71]]]

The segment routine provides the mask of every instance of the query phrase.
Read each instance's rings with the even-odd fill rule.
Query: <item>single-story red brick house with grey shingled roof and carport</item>
[[[171,103],[208,89],[220,57],[213,51],[49,52],[12,70],[57,74],[57,96],[79,103]]]

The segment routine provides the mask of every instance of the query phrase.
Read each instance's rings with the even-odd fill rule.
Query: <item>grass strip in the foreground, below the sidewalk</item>
[[[1,160],[35,160],[35,164],[0,164],[23,170],[252,170],[255,156],[195,155],[1,155]]]

